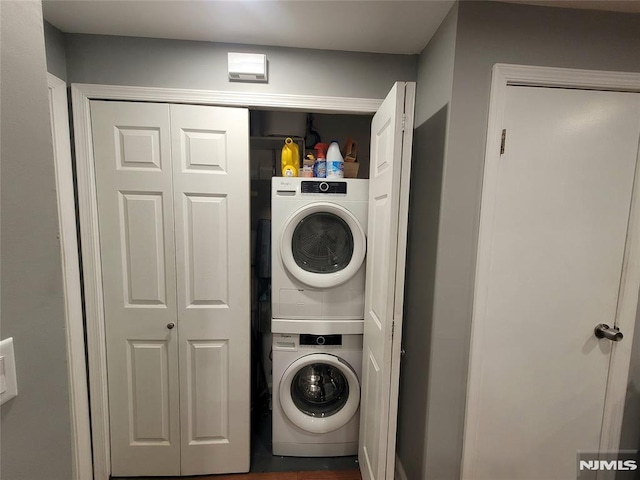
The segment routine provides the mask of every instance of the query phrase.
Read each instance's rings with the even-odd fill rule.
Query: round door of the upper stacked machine
[[[300,208],[282,230],[280,255],[296,279],[330,288],[351,279],[364,262],[367,237],[349,210],[329,202]]]

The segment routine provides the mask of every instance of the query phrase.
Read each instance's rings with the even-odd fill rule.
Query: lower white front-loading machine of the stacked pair
[[[273,335],[273,454],[358,453],[362,335]]]

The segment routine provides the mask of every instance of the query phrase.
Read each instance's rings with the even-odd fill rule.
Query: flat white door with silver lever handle
[[[616,346],[594,327],[619,321],[640,95],[510,86],[504,128],[504,154],[485,167],[495,173],[483,193],[463,478],[575,479],[577,452],[600,445]]]

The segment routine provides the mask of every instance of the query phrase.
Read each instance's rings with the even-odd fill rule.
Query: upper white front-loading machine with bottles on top
[[[272,331],[363,332],[369,181],[274,177]]]

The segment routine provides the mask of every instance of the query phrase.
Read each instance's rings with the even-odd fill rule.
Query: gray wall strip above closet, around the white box
[[[415,80],[415,55],[65,34],[69,83],[384,98]],[[265,53],[269,83],[229,82],[227,52]]]

